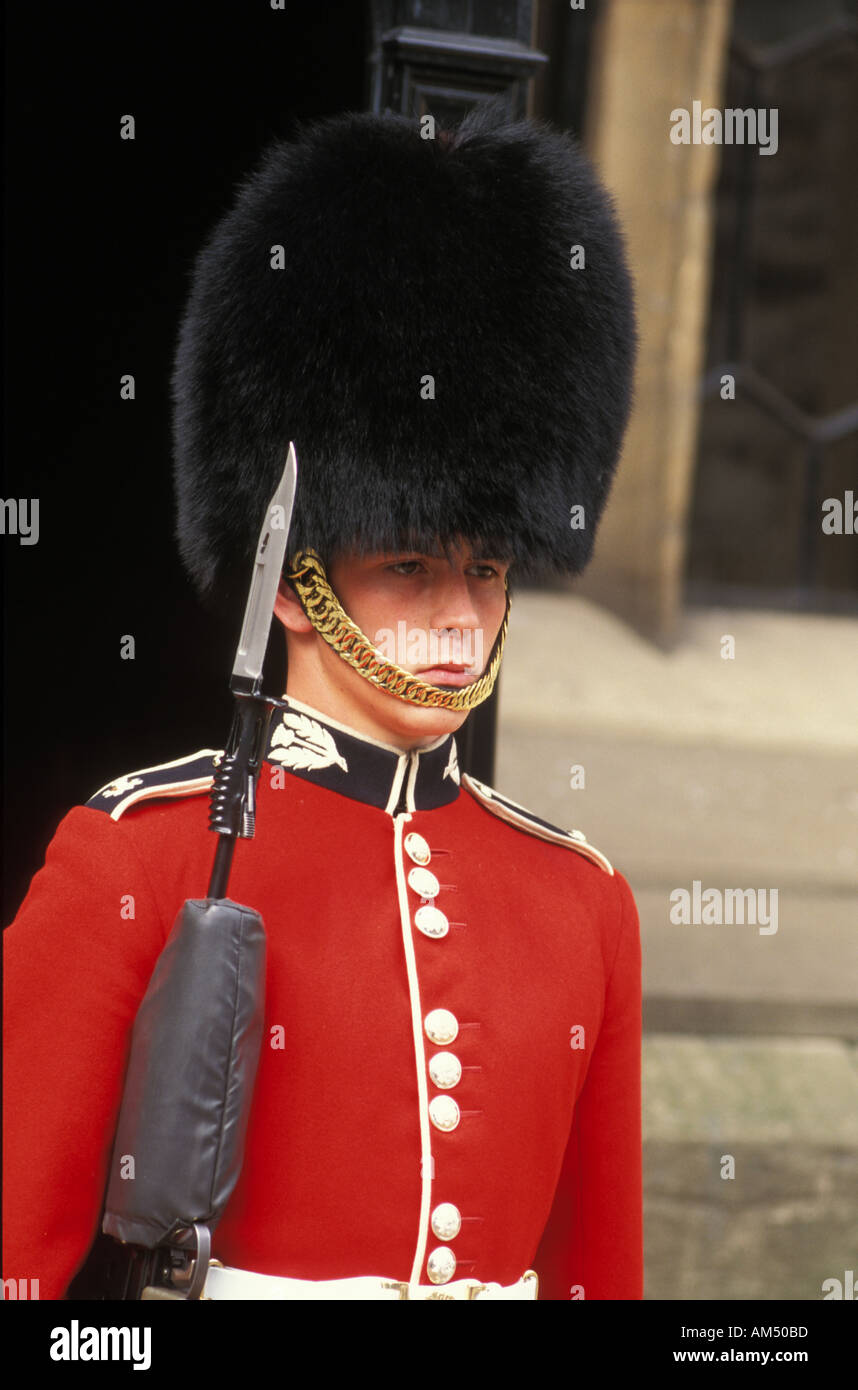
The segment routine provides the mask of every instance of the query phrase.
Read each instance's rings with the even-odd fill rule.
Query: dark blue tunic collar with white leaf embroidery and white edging
[[[459,795],[452,734],[428,748],[402,752],[289,698],[271,716],[266,760],[391,816],[398,810],[434,810]]]

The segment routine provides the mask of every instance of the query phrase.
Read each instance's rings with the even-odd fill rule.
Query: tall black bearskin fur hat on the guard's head
[[[491,103],[434,139],[352,114],[277,143],[200,252],[181,327],[178,534],[197,589],[246,589],[291,439],[289,555],[463,537],[519,573],[578,573],[634,338],[616,218],[569,136]]]

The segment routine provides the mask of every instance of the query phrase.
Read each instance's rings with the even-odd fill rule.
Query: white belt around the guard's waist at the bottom
[[[371,1300],[399,1302],[400,1300],[460,1298],[488,1302],[503,1300],[530,1302],[537,1297],[540,1280],[533,1269],[517,1284],[481,1284],[476,1279],[456,1279],[449,1284],[407,1284],[395,1279],[366,1276],[360,1279],[280,1279],[277,1275],[254,1275],[249,1269],[229,1269],[211,1261],[202,1297],[210,1298],[299,1298],[299,1300]]]

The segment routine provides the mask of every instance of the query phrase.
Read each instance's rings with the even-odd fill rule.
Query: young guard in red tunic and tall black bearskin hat
[[[516,577],[592,550],[630,282],[566,136],[491,106],[426,135],[346,115],[274,146],[181,331],[179,545],[221,612],[289,442],[299,464],[286,692],[229,885],[264,922],[263,1042],[203,1298],[642,1293],[631,892],[580,831],[462,776],[455,739]],[[220,759],[75,808],[7,933],[4,1273],[42,1297],[133,1161],[113,1152],[131,1030],[204,894]]]

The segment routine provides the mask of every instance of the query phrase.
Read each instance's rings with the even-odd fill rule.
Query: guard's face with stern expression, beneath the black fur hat
[[[460,546],[448,559],[402,550],[341,555],[328,580],[349,617],[396,666],[430,685],[459,689],[485,670],[506,610],[498,560],[476,559]],[[359,733],[398,746],[417,746],[453,733],[466,712],[426,709],[371,685],[352,670],[306,621],[300,606],[278,616],[288,630],[288,694]]]

